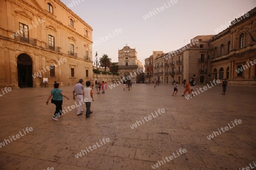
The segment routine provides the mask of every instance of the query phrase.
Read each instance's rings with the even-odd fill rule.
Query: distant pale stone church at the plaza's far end
[[[118,49],[118,72],[121,78],[130,76],[131,80],[141,82],[144,78],[142,62],[138,60],[137,52],[130,46],[124,46],[121,50]]]

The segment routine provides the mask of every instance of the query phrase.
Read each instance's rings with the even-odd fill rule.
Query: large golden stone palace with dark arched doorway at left
[[[92,79],[92,27],[59,0],[0,1],[0,87]]]

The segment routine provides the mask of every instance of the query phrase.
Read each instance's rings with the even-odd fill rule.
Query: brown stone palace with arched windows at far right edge
[[[213,78],[228,84],[256,86],[256,8],[211,40]]]

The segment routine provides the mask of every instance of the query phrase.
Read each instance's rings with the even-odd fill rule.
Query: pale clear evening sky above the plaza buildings
[[[73,1],[79,4],[74,5]],[[130,48],[136,48],[138,59],[143,65],[144,59],[149,57],[152,51],[168,53],[188,44],[197,35],[216,35],[214,29],[256,6],[256,0],[61,2],[93,28],[93,41],[111,36],[109,40],[101,40],[100,44],[94,45],[93,61],[95,53],[98,52],[98,57],[108,54],[112,62],[118,62],[118,49],[127,44]],[[144,19],[147,14],[149,18]],[[119,31],[116,33],[115,29]]]

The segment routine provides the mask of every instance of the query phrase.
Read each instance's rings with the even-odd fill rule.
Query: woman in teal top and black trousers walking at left
[[[53,114],[52,119],[55,121],[58,121],[58,119],[56,118],[57,116],[59,117],[61,116],[63,97],[69,100],[69,98],[63,93],[62,90],[59,89],[59,87],[60,87],[59,83],[54,84],[54,88],[51,91],[51,94],[49,94],[48,99],[46,101],[46,104],[48,105],[49,99],[53,96],[53,104],[56,105],[56,108],[55,108],[55,113]]]

